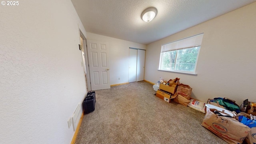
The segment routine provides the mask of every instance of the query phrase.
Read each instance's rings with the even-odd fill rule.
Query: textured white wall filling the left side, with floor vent
[[[70,144],[70,118],[86,94],[70,0],[0,5],[0,143]]]

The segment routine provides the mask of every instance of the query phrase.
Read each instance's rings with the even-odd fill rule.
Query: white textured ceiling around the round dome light
[[[256,0],[71,0],[86,32],[150,44]],[[140,15],[158,13],[151,22]]]

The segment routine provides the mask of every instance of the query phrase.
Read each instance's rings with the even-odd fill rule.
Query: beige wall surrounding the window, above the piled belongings
[[[158,71],[161,45],[204,33],[197,76]],[[147,45],[145,80],[181,78],[192,97],[256,102],[256,2]]]

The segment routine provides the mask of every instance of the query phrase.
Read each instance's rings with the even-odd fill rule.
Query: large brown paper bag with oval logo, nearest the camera
[[[207,112],[201,125],[230,144],[242,144],[251,131],[238,120],[218,116],[211,111]]]

